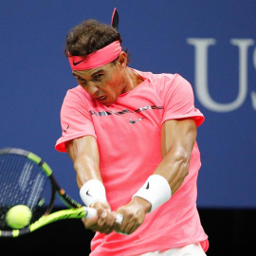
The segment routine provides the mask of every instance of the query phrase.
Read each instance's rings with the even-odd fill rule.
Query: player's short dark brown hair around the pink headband
[[[87,56],[104,46],[119,41],[122,43],[119,31],[97,20],[89,19],[69,30],[65,37],[64,54],[68,56]],[[127,49],[127,56],[130,57]],[[128,63],[130,58],[128,58]]]

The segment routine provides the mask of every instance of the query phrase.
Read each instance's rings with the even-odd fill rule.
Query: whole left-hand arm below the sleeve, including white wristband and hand
[[[85,206],[95,208],[98,213],[95,217],[82,219],[84,227],[106,234],[112,232],[116,216],[106,200],[95,137],[85,136],[72,140],[67,146],[67,153],[74,163],[82,202]]]

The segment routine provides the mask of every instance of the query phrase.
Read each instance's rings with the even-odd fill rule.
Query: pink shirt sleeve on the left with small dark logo
[[[86,98],[82,97],[80,90],[69,90],[66,93],[61,109],[62,137],[60,137],[55,149],[66,152],[66,142],[83,136],[96,137],[91,115],[89,114]]]

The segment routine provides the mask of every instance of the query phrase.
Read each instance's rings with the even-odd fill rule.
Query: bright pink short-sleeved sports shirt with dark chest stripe
[[[65,152],[64,142],[76,137],[97,138],[101,177],[112,210],[127,204],[154,173],[161,161],[164,121],[190,118],[197,126],[204,121],[203,114],[194,107],[190,82],[178,74],[135,71],[144,82],[120,95],[111,106],[93,100],[79,85],[68,90],[61,111],[63,136],[57,140],[56,150]],[[90,255],[139,255],[196,242],[207,245],[208,236],[196,209],[200,166],[195,143],[190,172],[172,198],[146,214],[144,223],[131,235],[97,232]]]

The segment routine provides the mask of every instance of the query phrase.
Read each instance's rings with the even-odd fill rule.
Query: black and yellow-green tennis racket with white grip
[[[56,195],[66,209],[51,212]],[[27,206],[31,219],[26,227],[12,229],[7,213],[17,205]],[[18,237],[63,219],[96,215],[95,209],[82,206],[64,192],[41,157],[23,149],[0,149],[0,237]],[[121,221],[119,214],[117,222]]]

